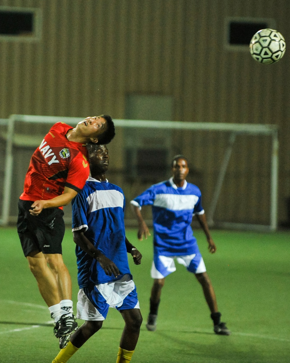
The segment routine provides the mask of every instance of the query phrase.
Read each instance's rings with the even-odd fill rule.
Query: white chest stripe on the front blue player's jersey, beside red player
[[[87,197],[87,201],[90,205],[88,208],[88,213],[91,213],[102,208],[123,208],[124,196],[121,192],[115,189],[96,190]]]

